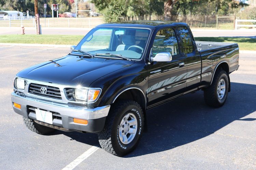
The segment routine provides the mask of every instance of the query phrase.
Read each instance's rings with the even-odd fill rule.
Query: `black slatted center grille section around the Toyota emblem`
[[[41,92],[42,87],[45,87],[47,89],[46,94],[43,94]],[[31,92],[34,95],[50,97],[50,98],[54,98],[54,99],[61,99],[60,89],[58,87],[31,83],[29,85],[29,90],[28,91]]]

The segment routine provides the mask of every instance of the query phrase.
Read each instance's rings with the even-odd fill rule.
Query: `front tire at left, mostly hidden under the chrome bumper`
[[[29,130],[40,135],[48,135],[56,131],[56,129],[36,123],[33,119],[23,117],[23,121]]]

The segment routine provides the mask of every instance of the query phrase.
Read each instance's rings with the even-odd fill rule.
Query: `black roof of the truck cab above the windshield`
[[[157,26],[171,25],[171,26],[187,26],[186,23],[173,21],[123,21],[100,24],[97,27],[133,27],[133,28],[155,28]]]

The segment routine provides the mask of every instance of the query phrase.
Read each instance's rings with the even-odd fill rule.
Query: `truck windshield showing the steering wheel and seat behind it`
[[[140,59],[146,46],[150,30],[137,28],[94,28],[75,47],[90,54],[116,54],[133,59]],[[113,55],[113,56],[114,56]]]

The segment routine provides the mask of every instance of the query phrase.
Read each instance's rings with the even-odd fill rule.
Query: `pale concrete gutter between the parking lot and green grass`
[[[4,46],[30,46],[30,47],[63,47],[70,48],[72,45],[58,45],[58,44],[22,44],[22,43],[0,43]],[[240,54],[256,54],[256,51],[239,50]]]

